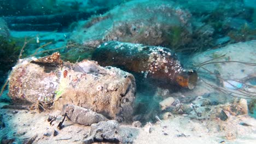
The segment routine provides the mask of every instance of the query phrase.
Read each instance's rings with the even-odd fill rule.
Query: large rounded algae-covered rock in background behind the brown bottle
[[[110,40],[182,47],[191,42],[190,16],[170,1],[130,1],[81,22],[71,39],[91,48]]]

